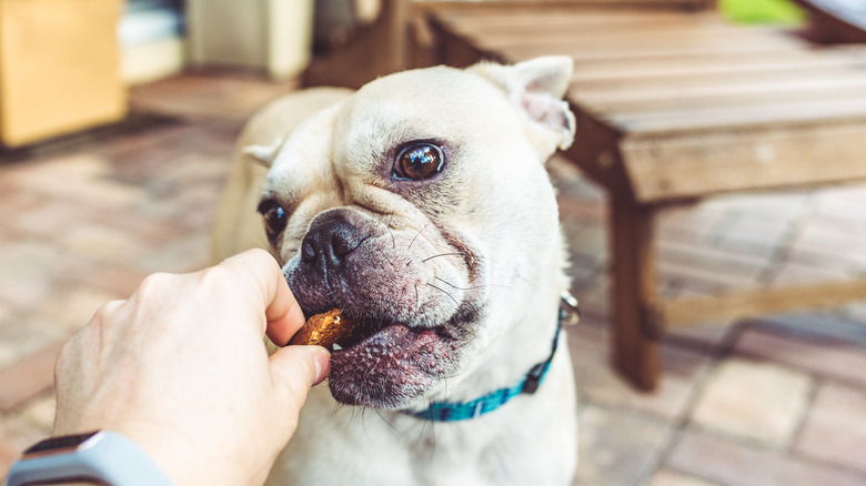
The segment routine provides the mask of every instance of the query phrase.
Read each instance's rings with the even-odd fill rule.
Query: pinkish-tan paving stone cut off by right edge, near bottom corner
[[[794,450],[866,477],[866,388],[822,386]]]

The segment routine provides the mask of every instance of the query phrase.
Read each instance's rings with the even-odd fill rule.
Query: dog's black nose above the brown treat
[[[323,273],[336,269],[361,240],[361,232],[345,220],[313,223],[301,243],[301,262]]]

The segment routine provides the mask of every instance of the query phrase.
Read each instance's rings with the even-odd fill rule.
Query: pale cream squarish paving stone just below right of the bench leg
[[[709,376],[692,423],[774,447],[792,439],[808,406],[812,379],[777,365],[726,360]]]

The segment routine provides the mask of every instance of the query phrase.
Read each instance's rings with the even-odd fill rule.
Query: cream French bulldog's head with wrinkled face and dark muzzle
[[[540,58],[401,72],[248,151],[271,164],[259,211],[304,313],[354,322],[332,355],[338,401],[441,395],[564,282],[543,162],[574,135],[571,71]]]

